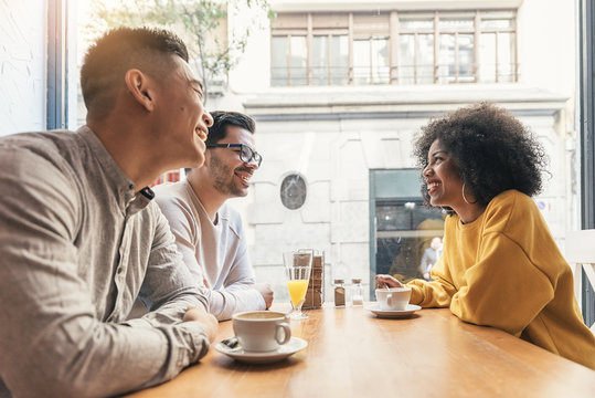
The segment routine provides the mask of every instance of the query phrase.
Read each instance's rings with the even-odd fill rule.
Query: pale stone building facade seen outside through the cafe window
[[[257,121],[264,161],[235,206],[257,276],[277,297],[286,296],[281,252],[291,249],[325,251],[327,293],[339,277],[372,290],[376,273],[421,276],[442,214],[421,207],[412,142],[431,117],[480,101],[510,109],[545,147],[551,176],[535,201],[559,244],[577,228],[572,2],[272,7],[276,18],[251,36],[209,108]],[[230,12],[230,29],[258,18],[248,14]]]

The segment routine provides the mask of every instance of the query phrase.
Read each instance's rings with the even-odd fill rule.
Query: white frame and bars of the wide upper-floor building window
[[[317,17],[318,15],[318,17]],[[389,77],[386,78],[374,78],[375,73],[378,72],[378,65],[374,62],[373,54],[370,54],[370,60],[368,63],[369,75],[366,83],[364,84],[401,84],[399,76],[399,69],[403,65],[399,64],[399,45],[401,35],[413,35],[414,38],[414,53],[417,52],[417,42],[419,34],[431,34],[433,35],[433,84],[448,84],[448,83],[479,83],[481,82],[481,65],[480,61],[480,43],[482,34],[493,34],[495,35],[495,54],[493,54],[493,82],[500,83],[500,81],[506,76],[501,75],[501,66],[499,64],[499,39],[502,34],[512,35],[512,49],[511,59],[512,59],[512,76],[511,82],[519,81],[519,63],[518,63],[518,34],[517,34],[517,10],[516,9],[503,9],[503,10],[464,10],[464,11],[448,11],[448,10],[435,10],[431,12],[414,12],[414,11],[383,11],[378,13],[379,18],[382,17],[378,23],[370,22],[371,15],[362,12],[341,12],[334,13],[334,19],[328,18],[329,21],[320,22],[320,13],[317,12],[284,12],[277,15],[277,19],[272,22],[270,35],[272,38],[285,36],[289,38],[299,32],[300,35],[306,35],[306,45],[307,45],[307,81],[306,85],[319,85],[315,83],[314,78],[314,61],[312,61],[312,41],[314,36],[327,35],[330,38],[334,35],[344,35],[347,31],[348,35],[348,80],[347,85],[358,85],[358,80],[355,78],[354,62],[353,62],[353,48],[357,40],[369,39],[370,41],[374,39],[387,39],[387,49],[389,49]],[[468,20],[472,21],[471,27],[463,28],[449,28],[440,29],[440,21],[450,20],[453,18],[463,18],[467,17]],[[497,18],[500,15],[500,18]],[[416,20],[427,18],[428,21],[432,21],[432,28],[427,29],[407,29],[402,28],[401,24],[405,20]],[[495,18],[496,17],[496,18]],[[442,18],[442,19],[440,19]],[[489,20],[510,20],[509,27],[486,27],[482,28],[482,21]],[[316,20],[316,21],[315,21]],[[344,22],[347,21],[347,22]],[[440,35],[442,34],[453,34],[455,39],[455,64],[454,64],[454,78],[450,74],[446,77],[447,80],[453,80],[453,82],[443,82],[440,81],[439,75],[439,48],[440,48]],[[460,75],[460,65],[459,65],[459,54],[458,54],[458,36],[460,34],[472,35],[472,62],[470,64],[471,76],[465,77]],[[273,50],[273,49],[272,49]],[[414,65],[413,67],[413,84],[421,84],[418,74],[422,67],[427,67],[428,65],[419,65],[417,62],[417,54],[414,54]],[[329,56],[331,56],[329,51]],[[328,67],[328,81],[326,85],[333,85],[332,73],[331,73],[332,60],[329,57]],[[450,66],[450,64],[448,65]],[[276,67],[273,62],[270,63],[270,84],[272,86],[291,86],[294,85],[290,78],[291,65],[290,60],[288,60],[288,78],[286,84],[279,84],[279,82],[274,82],[273,76]],[[508,70],[508,69],[507,69]],[[365,73],[364,73],[365,74]],[[360,74],[358,74],[360,75]],[[407,78],[410,78],[407,76]],[[491,80],[490,80],[491,81]]]

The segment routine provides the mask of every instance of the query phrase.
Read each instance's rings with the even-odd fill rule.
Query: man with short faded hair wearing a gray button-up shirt
[[[96,397],[205,355],[216,320],[147,188],[199,167],[212,124],[184,44],[108,32],[81,72],[87,125],[0,138],[0,396]],[[149,313],[126,321],[137,296]]]

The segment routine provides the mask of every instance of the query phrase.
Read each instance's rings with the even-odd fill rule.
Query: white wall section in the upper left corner
[[[0,136],[45,127],[45,0],[0,0]]]

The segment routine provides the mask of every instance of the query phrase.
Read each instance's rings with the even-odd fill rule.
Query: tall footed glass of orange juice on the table
[[[291,298],[291,320],[305,320],[308,315],[301,313],[301,305],[306,298],[310,270],[312,269],[314,251],[300,250],[283,253],[283,262],[287,274],[287,290]]]

